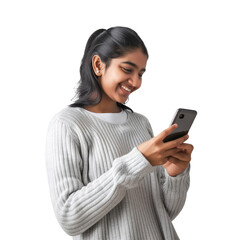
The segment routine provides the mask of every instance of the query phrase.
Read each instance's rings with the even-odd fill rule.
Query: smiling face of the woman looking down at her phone
[[[146,63],[147,56],[136,49],[112,59],[107,69],[103,64],[99,79],[105,100],[125,103],[129,95],[140,88]]]

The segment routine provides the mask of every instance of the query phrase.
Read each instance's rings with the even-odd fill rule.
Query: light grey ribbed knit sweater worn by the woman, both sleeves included
[[[153,137],[146,117],[127,111],[112,124],[67,107],[50,122],[46,164],[55,215],[81,240],[179,239],[172,220],[189,188],[189,169],[170,177],[137,149]]]

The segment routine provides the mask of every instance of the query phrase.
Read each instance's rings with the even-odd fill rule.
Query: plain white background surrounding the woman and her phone
[[[232,1],[1,1],[0,238],[71,239],[58,225],[45,169],[51,117],[71,103],[86,41],[128,26],[149,61],[128,106],[155,135],[196,109],[191,187],[175,219],[182,240],[233,239]],[[4,236],[4,237],[3,237]]]

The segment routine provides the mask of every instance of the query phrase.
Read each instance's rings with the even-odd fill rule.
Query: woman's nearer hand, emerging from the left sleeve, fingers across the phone
[[[170,156],[180,151],[177,147],[188,139],[188,135],[185,135],[184,137],[170,142],[163,142],[163,139],[177,127],[177,124],[173,124],[161,132],[157,137],[153,137],[137,147],[152,166],[165,164],[169,160]]]

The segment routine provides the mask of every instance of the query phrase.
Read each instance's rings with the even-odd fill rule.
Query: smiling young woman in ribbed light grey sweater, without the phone
[[[125,106],[140,88],[147,49],[132,29],[89,38],[76,101],[52,119],[46,161],[52,204],[73,239],[179,239],[172,220],[189,188],[188,136],[164,143]]]

